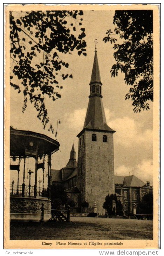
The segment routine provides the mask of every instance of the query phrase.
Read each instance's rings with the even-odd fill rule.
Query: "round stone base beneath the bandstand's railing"
[[[48,198],[10,197],[11,221],[40,221],[41,206],[44,204],[44,221],[51,218],[51,201]]]

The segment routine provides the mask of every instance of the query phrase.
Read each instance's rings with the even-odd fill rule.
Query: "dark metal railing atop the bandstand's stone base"
[[[23,191],[23,194],[22,194]],[[34,197],[34,186],[10,185],[11,196]],[[47,189],[36,187],[37,197],[48,197]]]

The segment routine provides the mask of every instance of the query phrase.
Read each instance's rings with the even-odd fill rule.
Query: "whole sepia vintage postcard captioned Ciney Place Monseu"
[[[6,6],[5,249],[159,248],[159,6]]]

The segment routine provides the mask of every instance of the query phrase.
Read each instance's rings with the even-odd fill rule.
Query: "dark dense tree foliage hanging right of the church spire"
[[[132,86],[125,100],[132,100],[135,113],[148,110],[146,101],[153,101],[152,11],[116,11],[113,23],[117,26],[114,29],[116,35],[123,42],[115,43],[111,29],[103,39],[115,43],[116,64],[110,70],[111,76],[117,76],[121,70],[125,74],[125,83]]]

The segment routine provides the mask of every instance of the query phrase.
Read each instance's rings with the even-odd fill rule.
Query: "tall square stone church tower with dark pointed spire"
[[[105,197],[113,194],[115,133],[106,122],[102,102],[102,82],[98,67],[97,50],[90,80],[89,103],[82,131],[78,137],[77,187],[80,190],[80,204],[97,204],[97,213],[104,214]],[[91,209],[90,209],[91,210]]]

